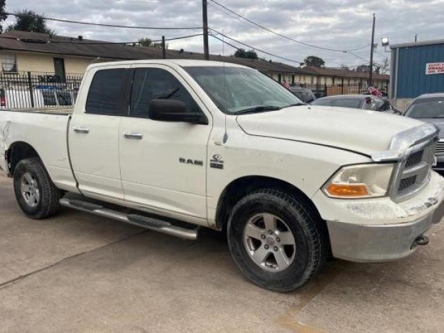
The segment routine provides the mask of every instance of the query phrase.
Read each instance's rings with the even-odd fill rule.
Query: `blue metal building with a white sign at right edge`
[[[444,40],[391,45],[393,100],[444,92]]]

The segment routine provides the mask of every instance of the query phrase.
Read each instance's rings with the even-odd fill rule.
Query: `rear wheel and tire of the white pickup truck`
[[[20,208],[31,219],[46,219],[59,210],[61,191],[53,184],[37,157],[17,164],[14,191]]]

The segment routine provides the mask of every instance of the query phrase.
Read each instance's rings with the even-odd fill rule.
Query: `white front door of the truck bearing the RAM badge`
[[[153,212],[206,223],[207,142],[211,117],[191,87],[162,65],[133,70],[130,117],[120,130],[121,180],[126,200]],[[175,99],[203,112],[207,125],[155,121],[152,99]]]

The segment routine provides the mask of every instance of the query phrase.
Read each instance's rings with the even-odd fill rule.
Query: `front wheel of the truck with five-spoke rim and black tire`
[[[270,221],[275,229],[268,233]],[[302,287],[321,271],[330,253],[327,227],[318,212],[276,189],[242,198],[230,215],[227,236],[234,262],[246,278],[273,291]]]

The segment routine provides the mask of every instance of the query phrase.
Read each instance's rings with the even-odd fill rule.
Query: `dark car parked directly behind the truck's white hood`
[[[386,99],[370,95],[335,95],[316,99],[311,105],[339,106],[363,110],[384,111],[393,114],[402,114]]]

